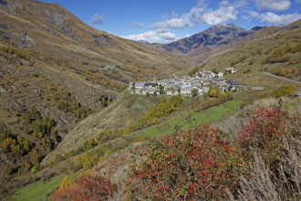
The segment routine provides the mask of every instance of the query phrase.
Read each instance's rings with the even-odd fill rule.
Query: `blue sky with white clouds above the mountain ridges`
[[[301,0],[42,0],[118,37],[170,43],[225,23],[244,29],[301,18]]]

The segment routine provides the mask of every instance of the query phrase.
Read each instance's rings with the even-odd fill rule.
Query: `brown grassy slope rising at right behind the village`
[[[293,85],[301,88],[301,84],[283,79],[269,77],[264,71],[278,73],[285,69],[283,76],[289,79],[301,80],[300,47],[301,20],[283,27],[266,27],[252,35],[236,41],[236,46],[216,49],[207,55],[196,68],[197,70],[217,69],[224,72],[226,68],[235,68],[233,75],[225,75],[225,79],[235,79],[247,85],[281,87]],[[285,50],[285,49],[295,50]],[[300,48],[298,48],[300,49]],[[277,51],[283,51],[281,55]],[[200,57],[201,58],[201,57]],[[234,62],[235,61],[235,62]]]

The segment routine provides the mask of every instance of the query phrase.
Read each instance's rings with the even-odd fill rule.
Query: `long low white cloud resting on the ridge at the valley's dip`
[[[176,40],[175,34],[171,32],[146,31],[138,35],[124,37],[131,40],[146,40],[152,43],[171,43]]]

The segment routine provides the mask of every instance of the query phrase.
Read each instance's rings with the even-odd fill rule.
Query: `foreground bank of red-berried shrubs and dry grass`
[[[239,110],[237,104],[231,101],[225,106]],[[150,141],[145,141],[148,138],[144,138],[139,146],[129,144],[129,148],[121,149],[113,156],[109,156],[106,161],[101,161],[92,172],[88,173],[88,183],[81,183],[79,177],[76,185],[71,185],[66,190],[62,189],[54,199],[110,195],[101,193],[97,189],[90,189],[88,194],[84,195],[74,193],[78,192],[75,191],[78,186],[84,187],[92,183],[102,184],[103,188],[111,188],[113,195],[116,197],[122,195],[125,198],[181,196],[203,199],[212,197],[244,199],[248,189],[246,186],[254,185],[252,188],[254,197],[268,198],[277,195],[280,200],[289,197],[294,199],[298,191],[297,183],[285,183],[282,176],[297,181],[297,175],[290,172],[292,166],[288,166],[297,167],[297,159],[290,164],[285,163],[291,157],[299,157],[294,155],[293,151],[299,144],[299,111],[298,99],[259,100],[253,106],[239,111],[238,115],[235,114],[236,119],[229,119],[229,117],[218,119],[217,125],[220,124],[222,130],[216,130],[214,126],[192,130],[188,128],[187,132],[182,129],[174,130],[172,135],[166,137],[161,137],[164,133],[161,131],[158,135],[160,137],[152,138]],[[232,120],[233,126],[240,125],[235,128],[237,132],[223,132],[223,121],[229,120]],[[190,124],[190,121],[187,121]],[[239,122],[246,123],[244,125]],[[228,122],[227,126],[232,125]],[[229,154],[231,157],[229,155],[223,157],[223,154]],[[158,160],[158,157],[161,160]],[[285,168],[276,169],[277,164]],[[196,177],[193,171],[200,171],[200,174],[197,174],[200,176]],[[268,183],[268,187],[274,189],[273,192],[265,191],[265,188],[260,188],[259,183],[248,179],[249,175],[259,178],[263,173],[265,178],[261,177],[261,183]],[[108,174],[112,183],[106,182],[104,176]],[[124,185],[125,194],[120,190]],[[283,187],[276,187],[279,185]],[[91,192],[96,194],[90,194]]]

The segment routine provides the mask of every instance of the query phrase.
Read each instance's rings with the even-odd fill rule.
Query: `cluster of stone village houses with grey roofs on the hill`
[[[225,74],[234,74],[235,72],[235,68],[224,70]],[[224,79],[221,71],[199,71],[193,77],[184,76],[182,78],[162,79],[159,81],[130,82],[129,89],[132,94],[147,96],[158,96],[163,91],[167,96],[178,95],[179,93],[182,96],[192,96],[192,94],[202,96],[203,93],[214,87],[218,87],[222,92],[240,90],[242,85],[236,80]]]

